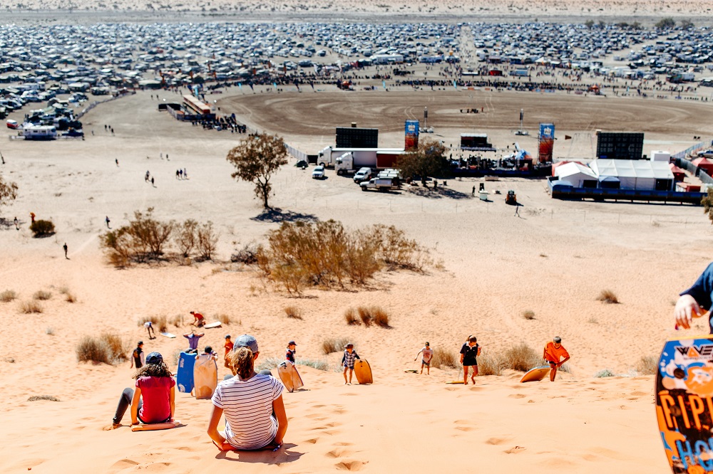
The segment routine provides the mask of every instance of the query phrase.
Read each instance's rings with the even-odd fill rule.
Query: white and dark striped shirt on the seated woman
[[[284,385],[272,375],[257,374],[248,380],[238,376],[220,382],[213,405],[223,409],[225,439],[237,449],[260,449],[277,434],[272,401],[282,395]]]

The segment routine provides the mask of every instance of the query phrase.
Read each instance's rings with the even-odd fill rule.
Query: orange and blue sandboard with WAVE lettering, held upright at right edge
[[[673,473],[707,473],[713,462],[713,336],[667,341],[656,371],[656,418]]]

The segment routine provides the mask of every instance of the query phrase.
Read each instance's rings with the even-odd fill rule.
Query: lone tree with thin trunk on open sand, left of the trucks
[[[255,183],[255,196],[262,199],[265,209],[269,209],[267,197],[272,191],[270,178],[279,167],[287,164],[287,147],[282,138],[266,133],[247,137],[228,152],[226,159],[236,169],[230,176]]]

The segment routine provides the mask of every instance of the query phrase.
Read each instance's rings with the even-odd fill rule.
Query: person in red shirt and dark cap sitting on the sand
[[[163,356],[158,352],[148,354],[145,366],[138,369],[134,378],[136,389],[124,389],[111,427],[121,426],[121,418],[129,405],[132,425],[173,421],[176,381]]]

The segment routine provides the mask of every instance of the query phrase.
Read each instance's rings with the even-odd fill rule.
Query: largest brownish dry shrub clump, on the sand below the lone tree
[[[332,220],[282,223],[255,257],[262,274],[291,294],[315,285],[363,286],[384,266],[421,271],[429,261],[416,241],[393,226],[348,231]]]

